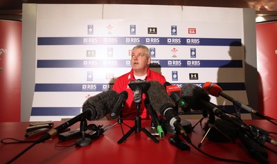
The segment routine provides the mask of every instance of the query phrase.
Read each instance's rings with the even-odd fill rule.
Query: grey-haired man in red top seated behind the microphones
[[[123,110],[123,119],[124,120],[133,120],[136,116],[136,103],[133,101],[133,91],[129,88],[129,81],[132,80],[156,80],[161,84],[166,82],[166,78],[155,71],[151,71],[149,68],[151,62],[150,51],[147,46],[134,46],[132,49],[131,55],[131,64],[132,69],[129,73],[125,73],[117,78],[114,83],[113,89],[118,93],[122,91],[127,91],[128,98],[126,100]],[[145,94],[143,93],[141,100],[141,109],[139,110],[140,116],[142,119],[149,119],[150,114],[144,107]]]

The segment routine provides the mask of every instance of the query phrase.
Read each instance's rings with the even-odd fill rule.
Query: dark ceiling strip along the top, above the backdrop
[[[277,0],[1,0],[0,19],[21,20],[22,3],[103,3],[253,8],[256,14],[275,19]]]

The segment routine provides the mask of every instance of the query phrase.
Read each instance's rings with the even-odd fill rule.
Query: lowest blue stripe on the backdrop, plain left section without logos
[[[77,116],[81,107],[33,107],[31,116]]]

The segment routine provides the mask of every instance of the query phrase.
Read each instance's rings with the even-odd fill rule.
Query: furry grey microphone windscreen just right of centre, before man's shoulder
[[[150,100],[150,104],[152,105],[153,109],[157,111],[158,113],[163,114],[161,111],[165,105],[168,105],[170,107],[174,107],[174,102],[166,93],[166,89],[164,86],[159,83],[158,81],[150,81],[148,82],[150,84],[150,87],[147,91],[148,98]]]

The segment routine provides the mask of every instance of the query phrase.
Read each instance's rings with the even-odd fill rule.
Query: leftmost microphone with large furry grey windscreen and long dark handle
[[[43,142],[49,138],[59,134],[64,131],[67,127],[75,124],[81,120],[97,120],[106,116],[110,109],[114,107],[116,100],[118,98],[118,93],[114,90],[104,91],[97,95],[88,98],[82,105],[82,113],[70,120],[64,122],[62,125],[55,127],[51,131],[48,131],[44,136],[39,138],[38,142]]]

